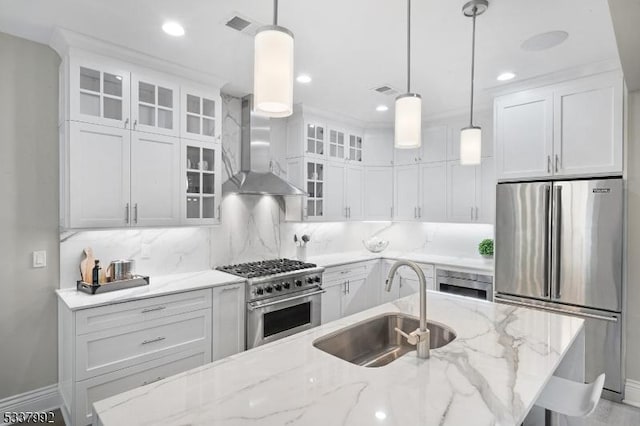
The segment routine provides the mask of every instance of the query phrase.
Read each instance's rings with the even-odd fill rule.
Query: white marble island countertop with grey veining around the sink
[[[95,412],[104,426],[516,425],[584,323],[429,292],[429,319],[457,338],[428,360],[409,352],[366,368],[312,346],[363,319],[418,309],[418,296],[408,296],[98,401]]]

